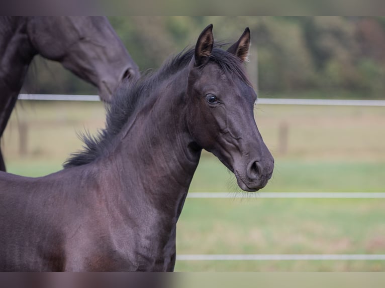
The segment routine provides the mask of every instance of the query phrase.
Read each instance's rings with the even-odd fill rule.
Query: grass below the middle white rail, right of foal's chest
[[[179,254],[384,254],[385,200],[188,199]],[[384,261],[178,261],[179,271],[373,271]]]

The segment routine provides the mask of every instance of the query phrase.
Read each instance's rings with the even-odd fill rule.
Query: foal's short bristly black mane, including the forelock
[[[220,49],[225,44],[215,44],[210,54],[210,62],[217,63],[228,79],[235,78],[243,80],[249,86],[252,86],[246,76],[244,66],[238,57]],[[175,57],[170,58],[156,72],[147,72],[136,83],[123,82],[117,88],[112,103],[107,108],[106,127],[91,135],[89,131],[79,134],[83,141],[83,150],[72,153],[69,159],[63,164],[63,167],[70,168],[81,166],[93,162],[100,156],[108,152],[115,136],[122,130],[124,125],[140,111],[147,102],[149,91],[152,91],[160,82],[167,79],[186,67],[194,56],[194,48],[184,49]]]

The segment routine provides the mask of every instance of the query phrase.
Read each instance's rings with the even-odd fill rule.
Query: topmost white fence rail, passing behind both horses
[[[20,100],[100,101],[98,95],[71,94],[20,94]],[[385,100],[338,99],[271,99],[258,98],[257,104],[276,105],[333,105],[333,106],[385,106]]]

